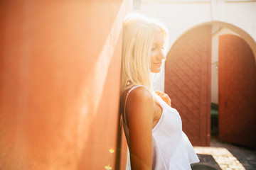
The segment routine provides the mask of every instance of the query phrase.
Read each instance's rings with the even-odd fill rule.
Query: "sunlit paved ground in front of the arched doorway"
[[[216,138],[210,147],[194,147],[200,163],[193,164],[193,170],[256,170],[256,149],[239,147]]]

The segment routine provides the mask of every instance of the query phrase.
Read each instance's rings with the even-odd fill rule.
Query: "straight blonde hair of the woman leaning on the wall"
[[[151,89],[151,48],[154,35],[159,31],[166,42],[167,30],[159,21],[140,13],[129,13],[125,18],[122,40],[121,94],[134,85],[143,85]]]

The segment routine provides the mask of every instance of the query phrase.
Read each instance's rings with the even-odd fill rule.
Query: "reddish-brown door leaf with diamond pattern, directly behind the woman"
[[[211,26],[190,30],[167,55],[164,89],[192,145],[210,145]]]

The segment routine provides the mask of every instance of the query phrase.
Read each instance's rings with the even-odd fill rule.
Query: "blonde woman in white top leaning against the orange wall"
[[[198,157],[167,94],[151,89],[150,72],[166,59],[167,31],[132,13],[124,21],[121,112],[132,169],[191,169]]]

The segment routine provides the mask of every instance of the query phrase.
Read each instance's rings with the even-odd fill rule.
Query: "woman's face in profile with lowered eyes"
[[[161,71],[161,64],[164,62],[166,56],[164,55],[164,37],[161,32],[157,32],[154,36],[154,41],[151,49],[151,72],[159,73]]]

